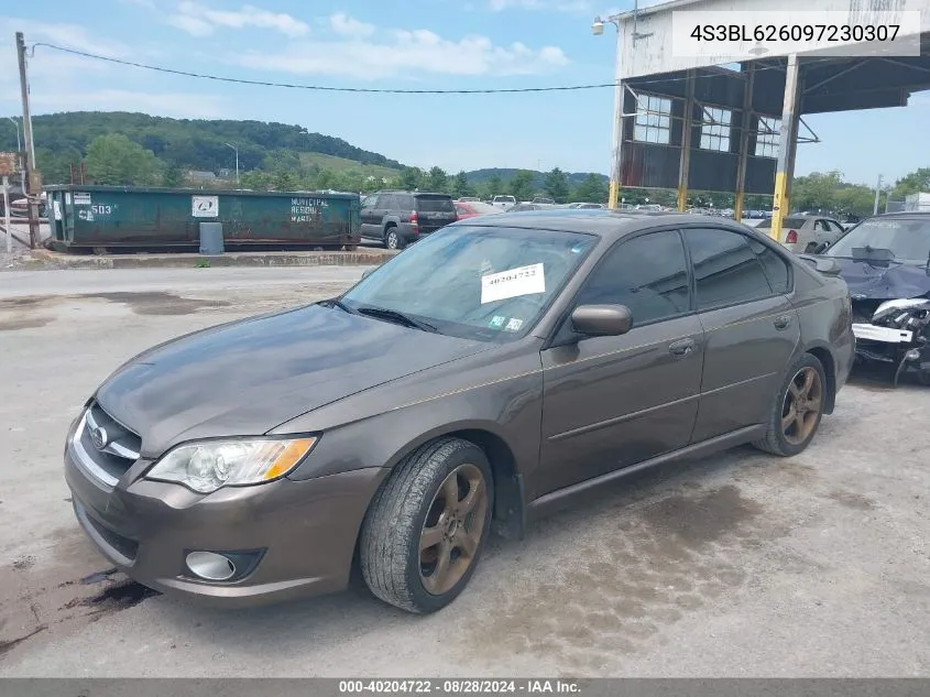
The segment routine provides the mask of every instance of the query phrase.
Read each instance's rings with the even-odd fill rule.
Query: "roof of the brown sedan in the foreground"
[[[708,222],[707,216],[678,211],[611,210],[610,208],[546,208],[543,210],[519,210],[505,217],[469,218],[453,226],[507,227],[528,230],[554,230],[581,232],[604,238],[619,239],[631,232],[665,225],[713,225],[731,230],[753,232],[754,230],[735,220],[715,218]],[[758,233],[756,233],[758,235]]]

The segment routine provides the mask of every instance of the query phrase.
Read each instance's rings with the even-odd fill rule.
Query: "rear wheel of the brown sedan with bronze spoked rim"
[[[808,396],[797,397],[810,375],[812,381],[807,391]],[[792,389],[795,385],[795,389]],[[814,395],[814,396],[810,396]],[[816,397],[816,399],[814,399]],[[788,421],[791,409],[797,414],[798,399],[803,400],[803,412],[800,420]],[[823,405],[827,400],[827,374],[823,366],[810,353],[801,356],[787,371],[772,404],[768,417],[768,431],[765,438],[753,443],[755,447],[779,457],[792,457],[802,453],[810,445],[823,418]],[[814,405],[816,401],[816,405]],[[786,425],[787,424],[787,425]]]

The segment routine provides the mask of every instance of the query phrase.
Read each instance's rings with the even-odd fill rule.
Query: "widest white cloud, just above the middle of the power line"
[[[344,33],[333,29],[338,34]],[[374,34],[376,37],[370,39]],[[469,35],[455,41],[425,29],[375,31],[374,28],[368,36],[303,42],[278,53],[251,51],[231,61],[251,68],[366,79],[409,73],[533,75],[569,63],[557,46],[533,50],[518,42],[500,46],[486,36]]]

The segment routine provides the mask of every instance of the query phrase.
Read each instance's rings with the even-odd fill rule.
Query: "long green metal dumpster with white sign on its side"
[[[199,248],[200,224],[220,222],[227,249],[322,247],[361,241],[355,194],[123,186],[46,186],[57,246]]]

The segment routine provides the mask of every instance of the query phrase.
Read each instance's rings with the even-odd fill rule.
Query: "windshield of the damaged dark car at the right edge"
[[[930,216],[864,220],[836,240],[824,254],[868,259],[875,250],[888,250],[895,261],[927,263],[930,257]]]

